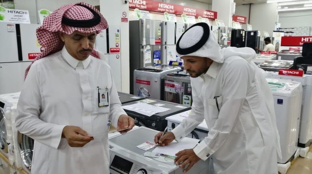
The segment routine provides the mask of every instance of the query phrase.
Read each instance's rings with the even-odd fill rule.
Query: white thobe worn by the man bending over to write
[[[266,101],[272,93],[256,68],[230,56],[191,78],[192,111],[172,132],[181,141],[205,119],[209,133],[194,152],[202,160],[213,154],[215,174],[277,173],[279,134]]]

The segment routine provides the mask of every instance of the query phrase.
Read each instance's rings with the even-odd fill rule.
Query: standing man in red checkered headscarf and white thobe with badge
[[[32,173],[110,173],[109,126],[127,132],[134,120],[93,49],[107,27],[98,10],[80,2],[60,7],[37,29],[44,49],[26,70],[16,118],[17,129],[35,140]]]

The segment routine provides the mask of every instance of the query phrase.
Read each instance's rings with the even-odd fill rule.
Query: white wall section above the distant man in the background
[[[276,3],[262,3],[252,4],[250,12],[250,25],[253,30],[269,32],[269,35],[273,35],[275,30],[275,19],[277,15],[277,4]]]

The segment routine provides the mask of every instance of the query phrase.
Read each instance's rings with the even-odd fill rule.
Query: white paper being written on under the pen
[[[198,142],[199,139],[185,137],[179,143],[174,140],[168,146],[157,146],[153,152],[175,156],[175,154],[181,150],[194,148]]]

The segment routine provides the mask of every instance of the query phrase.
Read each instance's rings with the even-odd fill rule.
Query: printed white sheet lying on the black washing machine
[[[153,105],[149,105],[145,103],[135,103],[133,105],[122,106],[122,108],[129,110],[129,111],[134,111],[134,112],[137,112],[139,114],[143,114],[149,117],[154,114],[170,110],[168,108],[153,106]]]

